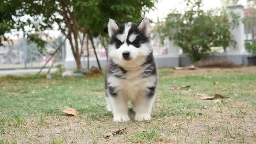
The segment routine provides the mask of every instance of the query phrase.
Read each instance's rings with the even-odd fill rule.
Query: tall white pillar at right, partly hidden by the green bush
[[[238,20],[238,25],[234,29],[230,29],[230,33],[233,39],[236,41],[236,47],[230,45],[227,49],[227,54],[229,55],[243,55],[245,51],[244,48],[244,24],[243,24],[243,6],[234,5],[227,7],[228,9],[228,19],[232,21],[232,16],[230,13],[236,13],[240,16]]]

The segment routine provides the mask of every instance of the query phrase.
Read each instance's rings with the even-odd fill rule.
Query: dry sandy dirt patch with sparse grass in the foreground
[[[237,104],[237,105],[236,105]],[[153,127],[157,128],[158,136],[152,143],[243,143],[252,144],[256,140],[256,112],[246,111],[250,106],[246,103],[233,105],[215,105],[204,109],[194,109],[194,115],[176,115],[171,117],[153,117],[151,121],[130,121],[116,123],[112,116],[100,121],[91,120],[86,115],[79,117],[49,116],[42,125],[35,119],[28,119],[19,128],[10,128],[3,135],[5,138],[19,137],[19,143],[127,143],[146,142],[136,137]],[[153,113],[157,110],[155,109]],[[131,117],[134,113],[131,113]],[[123,133],[110,139],[103,134],[127,128]],[[24,132],[26,131],[26,133]],[[24,136],[25,135],[25,136]]]

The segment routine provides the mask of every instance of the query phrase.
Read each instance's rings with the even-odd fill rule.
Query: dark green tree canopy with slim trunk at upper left
[[[0,0],[0,41],[10,29],[31,27],[34,31],[59,30],[69,39],[72,53],[81,69],[81,47],[85,35],[107,36],[107,23],[139,22],[158,0]],[[6,39],[5,39],[6,40]]]

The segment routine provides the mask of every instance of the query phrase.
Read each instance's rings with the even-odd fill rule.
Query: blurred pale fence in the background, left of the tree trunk
[[[51,52],[40,52],[35,44],[27,45],[25,36],[22,40],[16,40],[15,43],[5,43],[0,47],[0,70],[39,69],[48,61],[46,67],[63,65],[65,47],[63,46],[51,60],[49,58],[55,49],[50,49]]]

